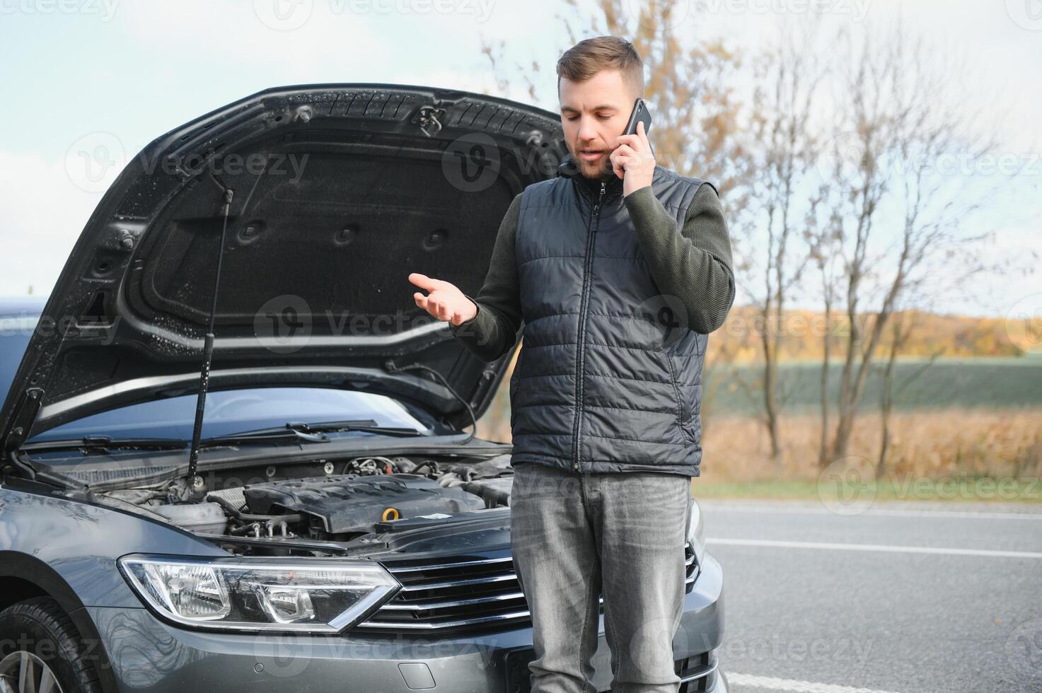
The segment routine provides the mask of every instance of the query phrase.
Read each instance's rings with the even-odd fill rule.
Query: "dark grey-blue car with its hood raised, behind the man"
[[[466,430],[513,351],[477,360],[405,268],[475,293],[564,154],[555,114],[395,84],[145,147],[46,302],[0,302],[0,691],[528,690],[511,446]],[[672,658],[725,691],[693,511]]]

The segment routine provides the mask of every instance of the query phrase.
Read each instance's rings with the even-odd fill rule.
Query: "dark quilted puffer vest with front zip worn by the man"
[[[622,181],[560,176],[521,195],[515,255],[522,347],[511,376],[513,464],[698,476],[708,335],[677,322],[622,199]],[[702,181],[656,166],[678,228]]]

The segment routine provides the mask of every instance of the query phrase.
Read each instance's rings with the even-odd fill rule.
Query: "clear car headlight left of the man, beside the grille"
[[[401,589],[371,561],[125,555],[138,596],[180,625],[339,633]]]

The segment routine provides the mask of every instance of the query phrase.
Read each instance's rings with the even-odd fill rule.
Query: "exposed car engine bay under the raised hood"
[[[140,511],[199,535],[253,540],[350,542],[399,526],[416,526],[510,504],[511,455],[477,462],[399,456],[268,466],[239,484],[220,477],[198,500],[183,488],[120,489],[105,502]],[[317,472],[317,473],[313,473]],[[296,473],[297,475],[292,475]],[[301,475],[303,474],[303,475]]]

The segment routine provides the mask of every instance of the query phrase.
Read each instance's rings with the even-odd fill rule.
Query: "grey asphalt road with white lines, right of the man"
[[[700,502],[737,693],[1042,692],[1042,508]]]

